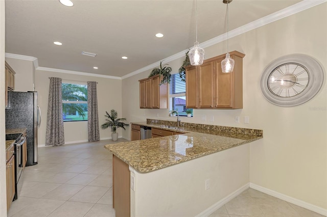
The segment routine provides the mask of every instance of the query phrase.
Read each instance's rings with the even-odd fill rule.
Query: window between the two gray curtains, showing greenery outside
[[[63,121],[87,121],[87,85],[62,83]]]

